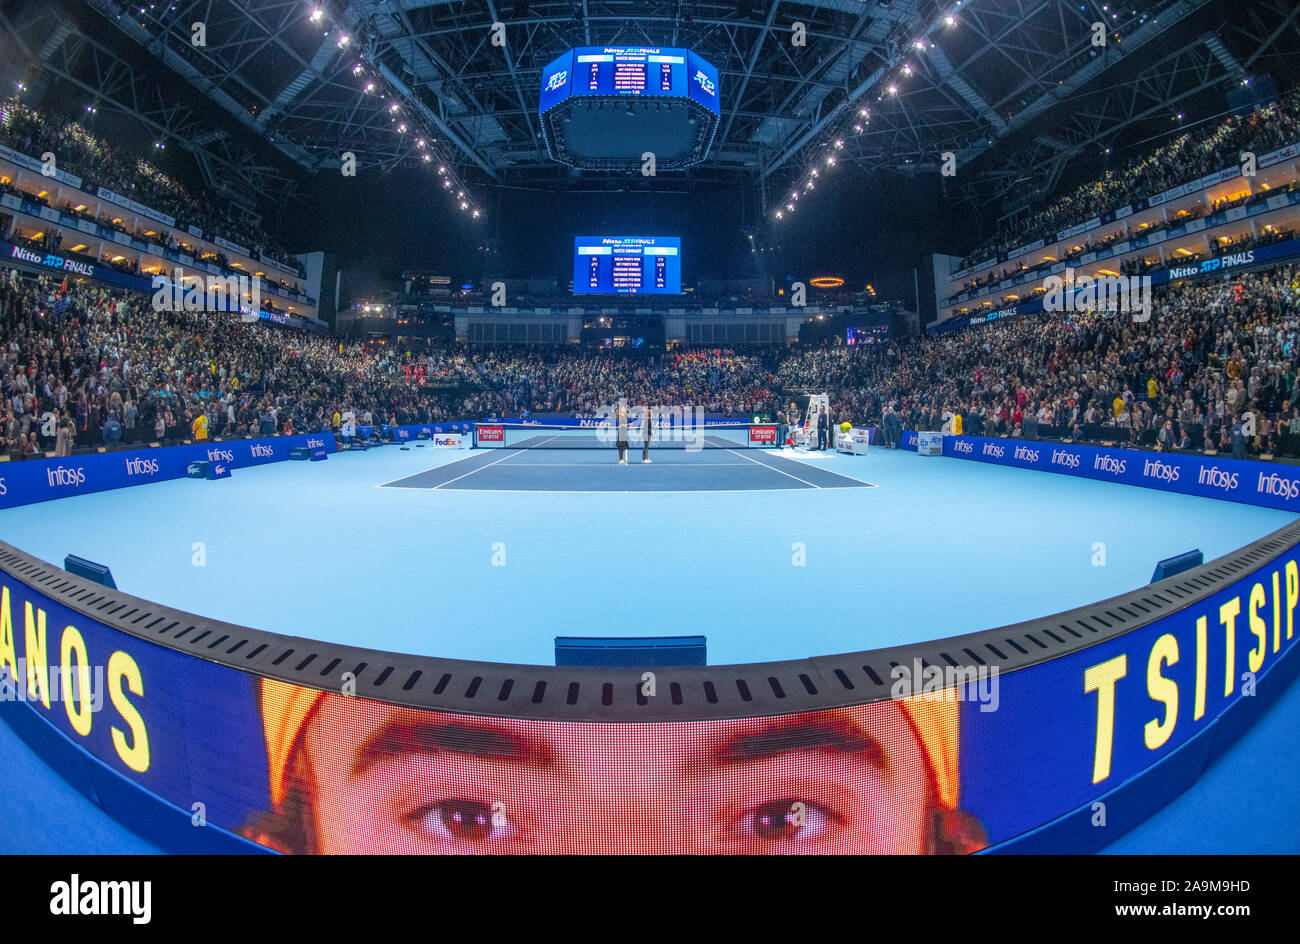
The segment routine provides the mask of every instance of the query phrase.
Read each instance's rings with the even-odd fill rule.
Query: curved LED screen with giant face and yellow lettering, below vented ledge
[[[876,662],[862,685],[875,674],[907,690],[853,703],[841,688],[824,709],[697,719],[707,701],[694,689],[681,719],[623,723],[528,716],[533,701],[498,694],[499,680],[482,687],[482,713],[419,706],[426,690],[469,690],[474,663],[416,672],[394,692],[403,705],[359,697],[391,670],[354,675],[346,651],[317,668],[287,637],[266,666],[311,662],[315,684],[268,680],[234,667],[266,649],[235,627],[186,629],[200,659],[151,641],[155,623],[179,636],[185,622],[147,622],[142,638],[5,571],[0,700],[152,796],[202,804],[209,824],[291,853],[974,852],[1087,809],[1271,684],[1294,654],[1297,555],[1287,546],[1197,602],[1002,675]],[[763,671],[835,685],[790,664]],[[655,697],[670,698],[673,670],[659,671]],[[549,711],[569,684],[551,684]]]

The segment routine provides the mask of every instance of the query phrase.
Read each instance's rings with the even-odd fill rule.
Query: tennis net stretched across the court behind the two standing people
[[[642,442],[641,426],[629,425],[628,447],[641,449]],[[745,449],[771,446],[775,442],[776,428],[772,425],[664,424],[655,426],[650,449]],[[474,429],[474,445],[493,449],[615,449],[618,430],[614,424],[573,426],[545,423],[480,423]]]

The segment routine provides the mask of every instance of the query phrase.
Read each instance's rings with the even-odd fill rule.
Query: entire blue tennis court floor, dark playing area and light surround
[[[702,635],[727,664],[1043,616],[1292,520],[880,449],[651,455],[385,446],[29,505],[0,527],[46,560],[108,564],[127,593],[280,633],[533,664],[554,663],[555,636]]]

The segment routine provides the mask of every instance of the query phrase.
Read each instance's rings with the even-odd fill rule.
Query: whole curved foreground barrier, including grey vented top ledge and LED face
[[[1297,542],[1000,629],[653,672],[278,636],[0,545],[0,716],[168,848],[1086,852],[1295,677]],[[784,845],[751,828],[794,802]]]

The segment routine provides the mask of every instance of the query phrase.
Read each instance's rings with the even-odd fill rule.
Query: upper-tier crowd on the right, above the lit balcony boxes
[[[1100,179],[1057,198],[1037,213],[1008,222],[992,239],[968,252],[961,268],[1036,239],[1054,241],[1057,233],[1095,216],[1238,164],[1243,151],[1264,155],[1296,140],[1300,140],[1300,87],[1249,114],[1230,116],[1213,130],[1179,135],[1122,169],[1104,172]],[[1214,209],[1222,208],[1226,207]]]

